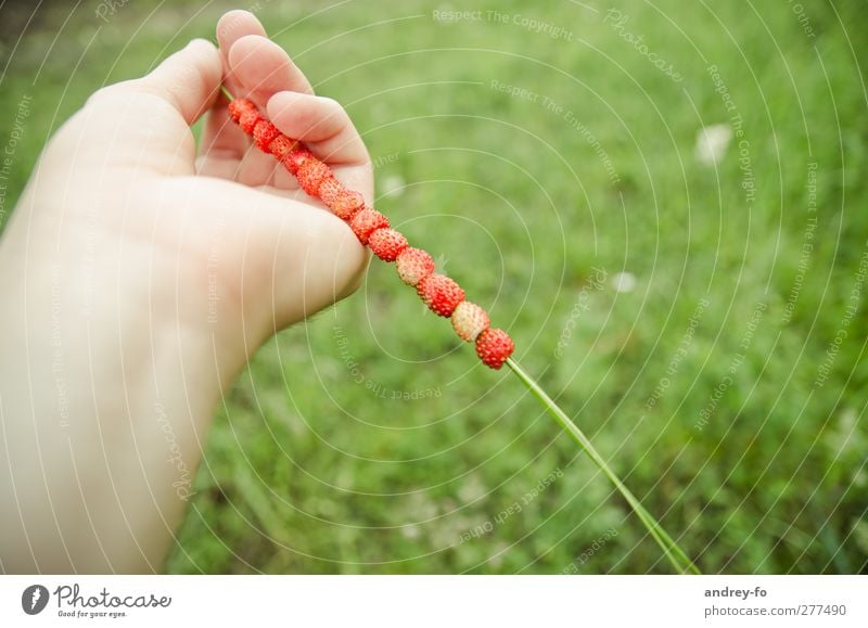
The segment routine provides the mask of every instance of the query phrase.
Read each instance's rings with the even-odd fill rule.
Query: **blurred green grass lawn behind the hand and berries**
[[[99,7],[0,7],[7,148],[33,98],[0,220],[92,91],[251,9],[349,110],[379,208],[704,571],[866,571],[864,2]],[[733,116],[743,136],[698,161]],[[668,571],[518,381],[383,264],[255,356],[194,490],[168,572]]]

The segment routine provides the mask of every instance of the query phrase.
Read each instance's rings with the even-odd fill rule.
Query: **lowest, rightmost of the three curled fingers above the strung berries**
[[[330,98],[281,91],[268,101],[268,117],[328,164],[358,166],[370,161],[346,110]]]

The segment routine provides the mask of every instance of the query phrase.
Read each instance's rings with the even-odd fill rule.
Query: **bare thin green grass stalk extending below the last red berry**
[[[610,469],[610,466],[603,460],[603,457],[593,447],[591,441],[588,439],[587,436],[582,432],[582,430],[573,423],[570,418],[558,407],[558,403],[554,400],[546,395],[546,392],[539,387],[531,375],[528,375],[520,366],[519,363],[509,358],[507,360],[507,364],[509,368],[512,369],[512,372],[515,373],[522,383],[527,386],[527,389],[539,399],[542,406],[548,410],[549,414],[554,416],[554,420],[561,424],[561,427],[566,431],[573,439],[578,443],[578,445],[587,452],[593,463],[603,472],[603,474],[610,479],[610,482],[617,488],[621,495],[624,496],[624,499],[627,500],[627,503],[630,504],[630,508],[634,510],[636,515],[639,520],[644,524],[644,527],[648,528],[648,531],[658,542],[658,544],[663,550],[663,553],[666,554],[666,557],[673,564],[673,566],[678,571],[680,574],[685,573],[693,573],[700,574],[699,568],[693,564],[693,562],[687,556],[687,554],[678,547],[669,535],[666,534],[666,530],[658,523],[658,521],[642,507],[641,502],[636,498],[635,495],[628,489],[623,482],[615,475],[615,473]]]

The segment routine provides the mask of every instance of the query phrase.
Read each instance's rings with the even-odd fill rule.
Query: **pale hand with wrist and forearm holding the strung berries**
[[[251,149],[219,85],[371,202],[346,112],[252,14],[217,39],[94,93],[0,241],[0,572],[162,571],[224,392],[362,277],[350,229]]]

